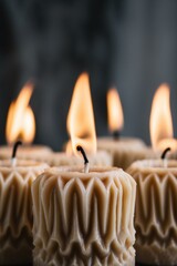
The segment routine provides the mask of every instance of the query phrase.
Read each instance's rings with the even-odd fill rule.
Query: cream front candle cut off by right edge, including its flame
[[[150,139],[155,151],[163,149],[162,160],[133,163],[127,170],[137,182],[135,212],[137,262],[176,265],[177,162],[167,160],[176,150],[169,105],[169,86],[156,91],[150,112]]]

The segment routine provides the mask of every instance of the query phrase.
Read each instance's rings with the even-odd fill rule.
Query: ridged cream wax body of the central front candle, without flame
[[[135,193],[119,168],[46,170],[32,185],[34,265],[135,265]]]

